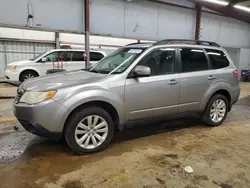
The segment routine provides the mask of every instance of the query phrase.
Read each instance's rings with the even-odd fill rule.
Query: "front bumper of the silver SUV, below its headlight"
[[[68,108],[50,99],[38,104],[15,104],[13,111],[22,126],[38,136],[57,140],[62,136]]]

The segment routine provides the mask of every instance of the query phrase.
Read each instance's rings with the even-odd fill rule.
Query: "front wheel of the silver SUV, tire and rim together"
[[[79,110],[70,117],[65,126],[65,140],[79,154],[103,150],[114,133],[112,118],[100,107]]]

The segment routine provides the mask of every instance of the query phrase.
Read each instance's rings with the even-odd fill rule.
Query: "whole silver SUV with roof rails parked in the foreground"
[[[238,100],[238,77],[216,43],[131,44],[90,69],[25,81],[14,114],[33,134],[64,137],[77,153],[96,152],[135,121],[195,113],[220,125]]]

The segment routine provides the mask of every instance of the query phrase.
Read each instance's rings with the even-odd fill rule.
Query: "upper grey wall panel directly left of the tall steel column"
[[[31,2],[34,26],[84,31],[83,0],[32,0]]]

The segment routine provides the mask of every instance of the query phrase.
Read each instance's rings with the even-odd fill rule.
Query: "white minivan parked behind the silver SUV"
[[[90,64],[94,65],[106,56],[102,51],[90,51]],[[59,61],[59,63],[58,63]],[[85,68],[84,50],[54,49],[46,51],[34,59],[9,63],[5,70],[5,77],[13,81],[24,81],[29,78],[46,75],[48,69],[53,69],[63,64],[67,71]]]

